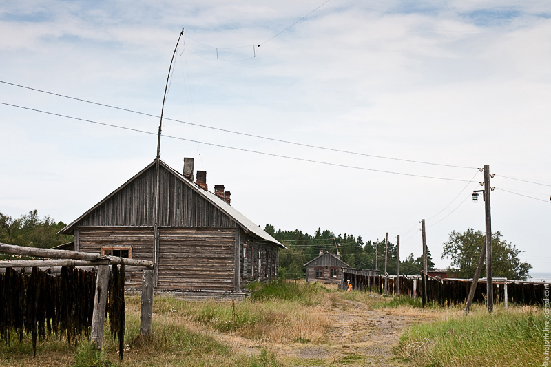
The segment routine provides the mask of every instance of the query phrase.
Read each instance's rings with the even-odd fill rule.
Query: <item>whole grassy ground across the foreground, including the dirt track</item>
[[[525,366],[543,359],[541,308],[419,308],[418,300],[337,291],[319,284],[251,284],[244,302],[154,298],[154,331],[139,335],[139,296],[126,297],[125,358],[105,334],[30,337],[0,345],[0,366]],[[107,326],[106,326],[107,330]]]

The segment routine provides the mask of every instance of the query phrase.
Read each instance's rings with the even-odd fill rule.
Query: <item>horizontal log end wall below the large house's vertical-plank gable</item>
[[[159,289],[233,291],[237,227],[160,228]],[[81,251],[132,247],[132,258],[152,261],[153,229],[80,227]],[[127,273],[129,287],[141,286],[141,271]]]

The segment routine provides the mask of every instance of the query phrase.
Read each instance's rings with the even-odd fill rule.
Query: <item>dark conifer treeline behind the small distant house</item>
[[[329,251],[333,254],[340,252],[341,260],[352,268],[373,269],[375,268],[375,249],[378,250],[378,264],[381,273],[384,272],[384,247],[386,240],[368,240],[364,242],[361,235],[353,234],[335,235],[335,233],[318,228],[313,235],[302,233],[298,229],[294,231],[282,231],[271,224],[266,224],[264,231],[273,236],[276,240],[287,247],[287,250],[280,250],[279,276],[282,279],[301,278],[306,276],[304,264],[316,258],[320,250]],[[400,273],[419,274],[423,269],[422,257],[414,258],[413,253],[404,256],[400,261]],[[430,251],[427,249],[428,269],[434,268]],[[396,274],[396,244],[388,241],[388,254],[386,272]]]

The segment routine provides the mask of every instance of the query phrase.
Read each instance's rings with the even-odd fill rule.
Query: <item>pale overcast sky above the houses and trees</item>
[[[262,228],[388,232],[402,257],[421,255],[426,218],[444,268],[451,231],[484,231],[484,203],[470,199],[482,187],[468,181],[489,164],[492,229],[533,273],[548,271],[551,3],[331,0],[315,10],[322,3],[2,1],[0,80],[158,115],[185,27],[166,118],[402,160],[164,120],[163,134],[202,142],[163,138],[171,167],[194,157],[209,189],[225,185]],[[5,83],[0,102],[152,133],[159,123]],[[7,105],[0,134],[0,211],[14,217],[37,209],[72,222],[156,156],[154,134]]]

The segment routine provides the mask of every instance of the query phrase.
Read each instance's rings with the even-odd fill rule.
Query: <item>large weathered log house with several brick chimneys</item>
[[[75,251],[154,261],[161,291],[228,294],[276,279],[285,247],[231,207],[223,185],[208,191],[206,171],[197,171],[196,182],[193,173],[193,158],[185,158],[183,174],[159,162],[156,249],[156,160],[60,233],[74,235]],[[141,272],[127,273],[128,286],[140,282]]]

